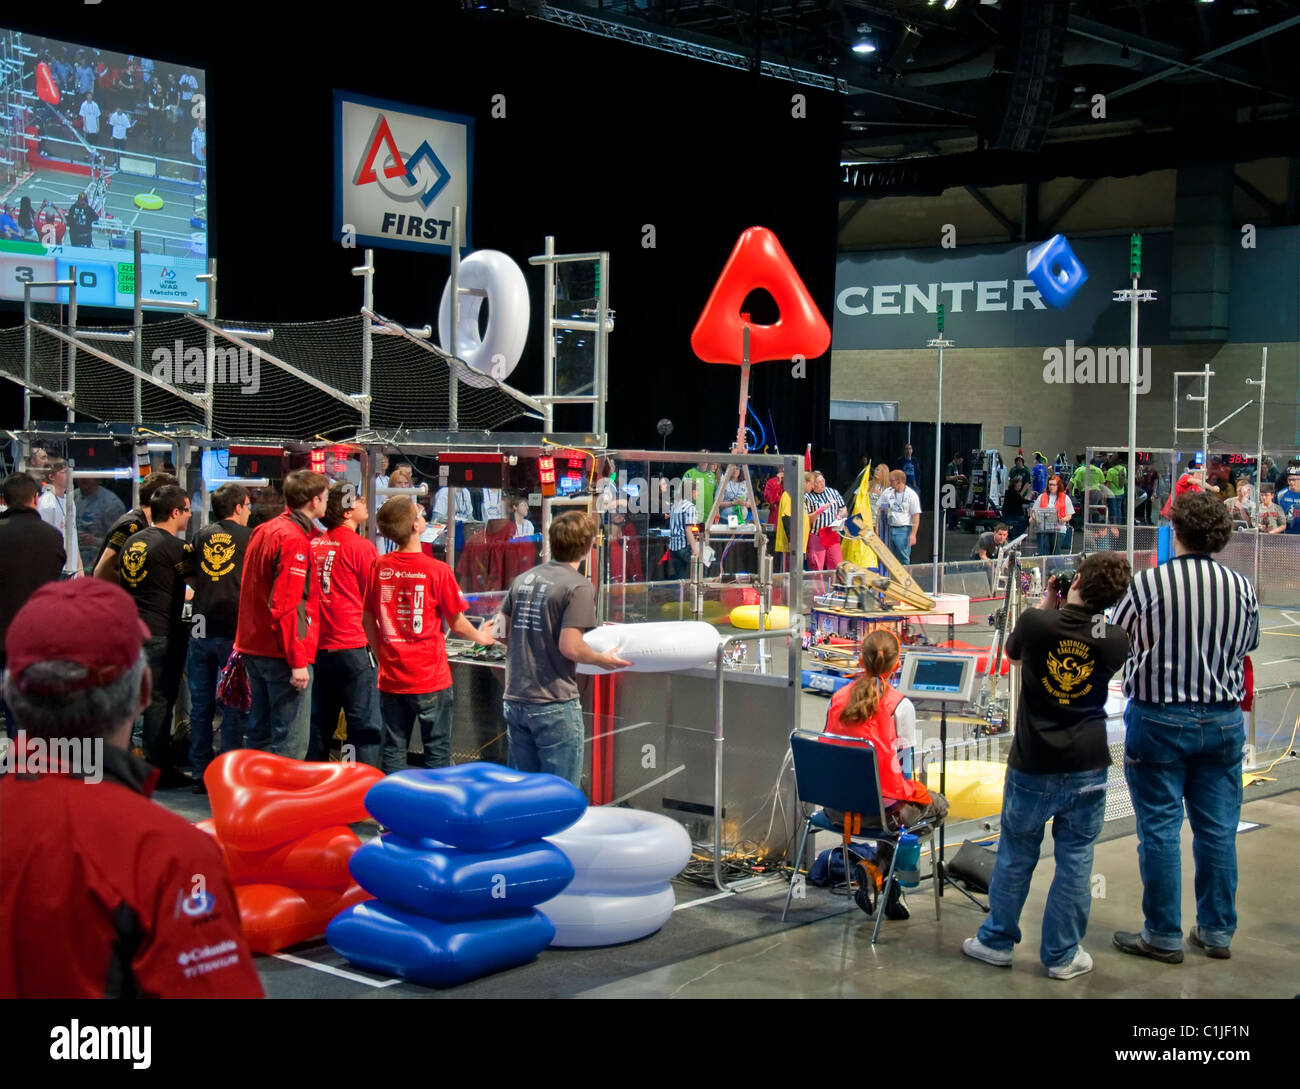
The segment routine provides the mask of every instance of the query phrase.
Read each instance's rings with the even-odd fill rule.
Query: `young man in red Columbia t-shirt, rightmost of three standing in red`
[[[365,603],[365,634],[380,660],[380,711],[384,716],[386,775],[407,765],[411,728],[420,724],[426,768],[451,765],[451,667],[443,621],[463,639],[490,647],[495,639],[465,619],[451,568],[420,548],[424,511],[406,495],[380,508],[380,533],[398,551],[374,564]]]

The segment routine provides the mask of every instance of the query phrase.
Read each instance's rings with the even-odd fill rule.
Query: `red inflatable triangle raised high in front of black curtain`
[[[831,346],[831,327],[776,235],[767,227],[750,227],[727,259],[690,334],[690,347],[705,363],[740,364],[745,327],[740,308],[759,287],[776,300],[781,316],[772,325],[750,322],[750,363],[796,355],[816,359]]]

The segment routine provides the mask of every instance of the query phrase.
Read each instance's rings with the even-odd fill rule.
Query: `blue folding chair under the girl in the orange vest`
[[[844,836],[844,872],[845,881],[850,882],[850,888],[853,869],[849,865],[849,843],[853,839],[883,839],[887,843],[893,843],[894,851],[889,862],[889,873],[885,876],[884,889],[876,904],[876,924],[871,930],[872,945],[875,945],[876,937],[880,933],[880,923],[885,917],[889,882],[893,880],[898,865],[898,839],[905,832],[910,832],[918,837],[928,836],[930,865],[935,885],[935,919],[939,919],[940,877],[933,833],[942,821],[923,820],[911,828],[900,828],[897,832],[889,830],[885,799],[880,794],[880,768],[876,763],[876,747],[863,738],[815,733],[812,730],[794,730],[790,734],[790,755],[794,758],[794,785],[800,801],[805,804],[822,806],[823,808],[811,814],[803,824],[803,834],[800,837],[800,849],[794,855],[794,873],[790,875],[790,888],[785,894],[785,908],[781,911],[781,921],[785,921],[785,916],[790,910],[794,882],[798,880],[798,860],[803,858],[803,846],[807,843],[809,833],[814,828],[822,832],[838,832]],[[842,828],[827,820],[826,808],[838,810],[844,814]]]

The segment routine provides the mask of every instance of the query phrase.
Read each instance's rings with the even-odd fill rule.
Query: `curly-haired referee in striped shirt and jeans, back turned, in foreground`
[[[1166,964],[1183,960],[1179,836],[1192,825],[1196,925],[1188,940],[1228,958],[1236,929],[1236,825],[1245,730],[1243,660],[1260,643],[1260,606],[1244,576],[1210,556],[1232,537],[1213,495],[1180,495],[1169,563],[1140,572],[1115,606],[1128,633],[1124,775],[1138,815],[1141,933],[1115,946]]]

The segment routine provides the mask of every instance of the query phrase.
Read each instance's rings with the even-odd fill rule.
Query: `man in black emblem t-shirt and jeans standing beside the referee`
[[[1052,821],[1056,877],[1043,912],[1041,958],[1048,975],[1069,980],[1092,971],[1079,941],[1092,907],[1092,849],[1106,810],[1106,693],[1128,656],[1128,637],[1104,611],[1128,589],[1128,561],[1095,552],[1079,564],[1065,606],[1044,594],[1006,642],[1020,665],[1020,703],[1006,762],[1001,839],[988,891],[989,915],[962,953],[1010,966],[1020,940],[1020,908]]]

